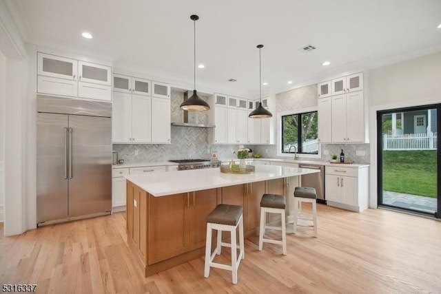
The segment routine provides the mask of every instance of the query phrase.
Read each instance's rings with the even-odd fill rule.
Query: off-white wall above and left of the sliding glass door
[[[369,207],[377,207],[376,113],[384,109],[441,103],[441,52],[371,70]]]

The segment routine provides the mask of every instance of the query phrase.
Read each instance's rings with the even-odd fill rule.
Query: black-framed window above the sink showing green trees
[[[317,112],[282,116],[282,154],[294,153],[294,147],[298,154],[318,154],[317,118]]]

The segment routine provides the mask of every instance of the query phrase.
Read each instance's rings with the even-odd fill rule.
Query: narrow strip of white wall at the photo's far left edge
[[[5,219],[5,96],[6,56],[0,51],[0,222]]]

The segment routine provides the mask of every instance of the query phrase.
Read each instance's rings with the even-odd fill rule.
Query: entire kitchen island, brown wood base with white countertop
[[[206,218],[217,204],[242,205],[249,236],[258,227],[263,193],[286,195],[289,179],[315,172],[257,165],[253,174],[213,168],[126,176],[127,243],[146,277],[170,269],[204,254]]]

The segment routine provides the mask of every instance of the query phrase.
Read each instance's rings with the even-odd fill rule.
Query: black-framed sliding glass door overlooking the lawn
[[[377,113],[378,205],[441,218],[441,104]]]

